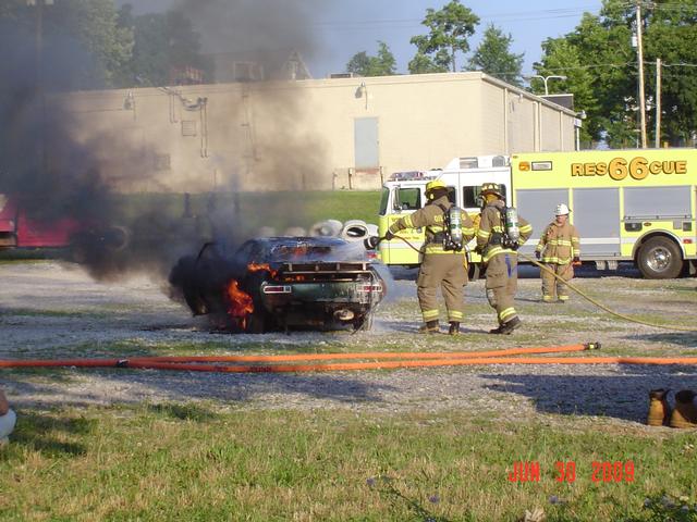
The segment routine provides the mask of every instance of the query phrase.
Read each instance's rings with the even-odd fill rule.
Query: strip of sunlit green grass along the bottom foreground
[[[599,419],[207,403],[20,415],[0,449],[7,521],[513,521],[536,507],[551,521],[649,521],[681,519],[649,518],[648,497],[697,501],[694,433]],[[629,460],[634,482],[591,481],[594,461]],[[538,461],[540,481],[509,482],[514,461]],[[557,461],[575,462],[575,482],[557,482]]]

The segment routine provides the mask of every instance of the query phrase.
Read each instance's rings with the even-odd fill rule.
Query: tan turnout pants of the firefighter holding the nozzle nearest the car
[[[416,279],[416,295],[424,322],[438,321],[438,287],[441,287],[448,321],[462,322],[463,287],[467,284],[464,253],[426,253]]]

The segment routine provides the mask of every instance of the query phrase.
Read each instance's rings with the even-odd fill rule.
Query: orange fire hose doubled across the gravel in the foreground
[[[184,356],[135,357],[131,359],[0,360],[1,368],[118,368],[216,373],[299,373],[404,368],[461,366],[482,364],[684,364],[697,365],[697,357],[529,357],[600,349],[599,343],[557,347],[510,348],[455,352],[363,352],[299,353],[282,356]],[[528,357],[513,357],[528,356]],[[372,359],[368,362],[333,362]],[[390,360],[392,359],[392,360]],[[310,363],[298,364],[295,361]],[[239,363],[228,365],[222,363]],[[291,362],[291,364],[279,364]],[[213,364],[210,364],[213,363]],[[262,363],[262,364],[240,364]]]

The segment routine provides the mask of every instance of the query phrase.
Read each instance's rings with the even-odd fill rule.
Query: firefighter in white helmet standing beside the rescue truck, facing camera
[[[568,300],[568,287],[564,282],[574,277],[574,263],[580,262],[580,243],[578,231],[568,223],[568,207],[560,203],[554,211],[554,221],[547,225],[542,233],[535,257],[549,270],[542,270],[542,301],[559,302]],[[552,273],[559,275],[564,282],[558,279]],[[557,291],[554,291],[557,289]],[[557,299],[554,298],[557,294]]]

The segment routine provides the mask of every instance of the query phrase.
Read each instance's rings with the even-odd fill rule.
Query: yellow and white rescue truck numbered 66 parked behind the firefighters
[[[481,183],[505,187],[506,201],[533,227],[521,252],[533,254],[554,208],[566,203],[570,221],[580,234],[582,261],[601,270],[634,262],[647,278],[695,273],[697,260],[697,150],[643,149],[580,152],[533,152],[512,157],[456,158],[442,171],[420,178],[390,179],[383,186],[379,232],[425,202],[426,184],[440,177],[451,187],[451,200],[470,215],[478,214]],[[423,231],[401,235],[415,247]],[[401,244],[401,245],[398,245]],[[467,246],[470,263],[480,260],[474,243]],[[382,241],[386,264],[417,265],[419,254],[399,239]]]

